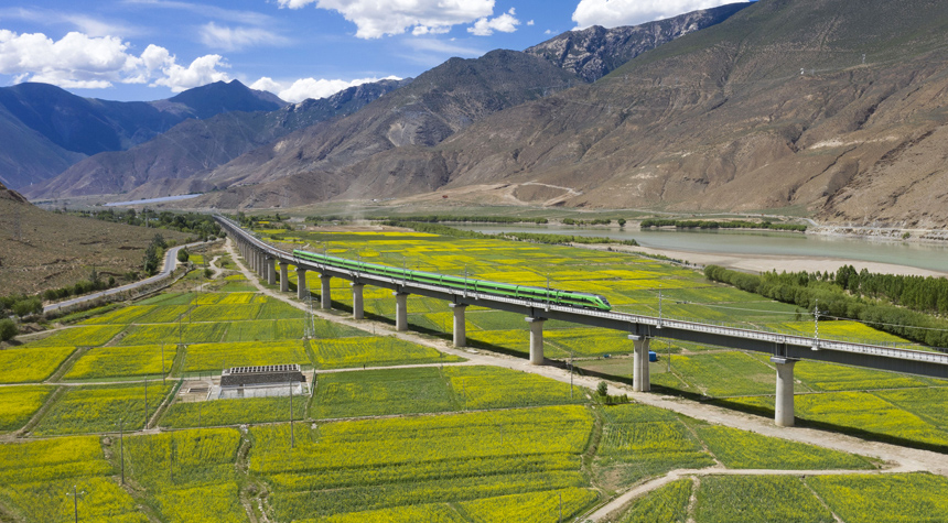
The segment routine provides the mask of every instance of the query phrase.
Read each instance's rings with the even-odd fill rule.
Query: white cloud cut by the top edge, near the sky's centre
[[[278,0],[280,7],[300,9],[315,4],[338,11],[356,24],[359,39],[401,34],[441,34],[451,26],[471,23],[494,13],[494,0]]]

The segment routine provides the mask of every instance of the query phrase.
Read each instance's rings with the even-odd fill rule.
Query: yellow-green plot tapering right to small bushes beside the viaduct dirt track
[[[585,389],[569,383],[499,367],[446,367],[459,406],[465,408],[509,408],[563,405],[588,401]]]

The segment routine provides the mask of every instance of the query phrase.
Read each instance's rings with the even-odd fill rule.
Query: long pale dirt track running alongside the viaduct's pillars
[[[243,260],[238,258],[237,251],[234,248],[234,242],[229,238],[227,239],[225,249],[227,249],[227,251],[231,254],[231,258],[238,270],[244,274],[245,277],[247,277],[247,280],[250,281],[250,283],[252,283],[259,290],[260,293],[266,294],[276,299],[280,299],[301,310],[309,310],[306,304],[297,302],[297,299],[294,297],[291,297],[289,294],[284,295],[280,292],[271,291],[263,286],[257,275],[249,271],[246,265],[244,265]],[[411,341],[425,347],[431,347],[449,355],[466,358],[468,360],[467,364],[502,367],[521,372],[530,372],[563,383],[570,383],[570,372],[567,369],[551,366],[531,366],[527,360],[514,358],[510,356],[495,353],[487,355],[483,353],[482,351],[468,352],[465,349],[454,348],[446,340],[432,340],[411,333],[398,333],[395,330],[395,326],[388,324],[380,324],[368,320],[357,322],[354,319],[341,317],[338,315],[325,313],[321,309],[313,309],[313,314],[322,319],[335,322],[368,333],[388,333],[390,335],[394,335],[398,339],[403,339],[406,341]],[[595,390],[599,382],[603,380],[573,374],[572,381],[575,385]],[[895,466],[890,469],[893,472],[928,471],[940,476],[948,476],[948,455],[935,453],[931,450],[899,447],[897,445],[860,439],[853,436],[819,431],[816,428],[778,427],[774,425],[773,421],[769,418],[731,411],[714,405],[701,404],[682,397],[661,396],[648,392],[634,392],[631,386],[617,383],[610,383],[608,394],[627,394],[629,399],[638,403],[657,406],[659,408],[665,408],[667,411],[683,414],[686,416],[690,416],[696,420],[701,420],[717,425],[724,425],[742,431],[750,431],[764,436],[777,437],[790,442],[805,443],[818,447],[829,448],[832,450],[874,457],[883,461],[894,464]],[[797,472],[804,473],[799,471]],[[865,471],[860,471],[859,473],[865,473]]]

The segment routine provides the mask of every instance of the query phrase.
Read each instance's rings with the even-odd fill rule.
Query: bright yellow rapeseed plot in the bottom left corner
[[[0,445],[0,500],[22,521],[72,521],[75,486],[84,521],[147,523],[114,472],[95,436]]]

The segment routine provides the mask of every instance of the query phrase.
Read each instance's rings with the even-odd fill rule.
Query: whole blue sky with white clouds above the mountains
[[[739,0],[4,0],[0,86],[155,100],[238,79],[288,101],[412,77],[452,56]]]

